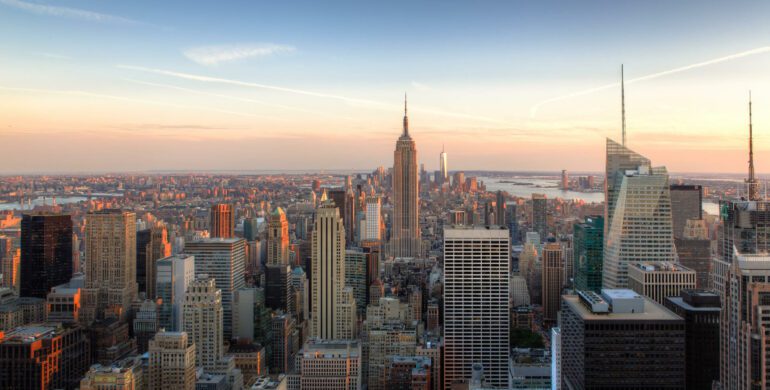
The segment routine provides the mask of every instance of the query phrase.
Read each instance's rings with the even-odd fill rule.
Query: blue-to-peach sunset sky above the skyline
[[[0,174],[374,169],[408,94],[426,169],[770,174],[768,1],[0,0]]]

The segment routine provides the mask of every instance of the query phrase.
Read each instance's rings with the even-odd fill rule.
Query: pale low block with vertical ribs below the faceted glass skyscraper
[[[695,271],[669,261],[640,261],[628,265],[628,288],[661,305],[695,288]]]

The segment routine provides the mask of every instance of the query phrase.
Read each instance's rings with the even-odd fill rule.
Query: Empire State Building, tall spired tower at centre
[[[394,257],[419,257],[419,177],[417,146],[409,136],[406,98],[404,98],[404,131],[393,152],[393,228],[391,250]]]

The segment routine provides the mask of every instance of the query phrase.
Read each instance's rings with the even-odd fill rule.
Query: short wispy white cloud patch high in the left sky
[[[294,46],[274,43],[237,44],[199,46],[187,49],[184,56],[201,65],[216,66],[221,63],[233,62],[254,57],[269,57],[275,54],[293,53]]]

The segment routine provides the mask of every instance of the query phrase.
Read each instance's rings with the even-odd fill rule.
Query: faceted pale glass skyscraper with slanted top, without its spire
[[[677,261],[668,173],[608,138],[606,180],[603,286],[625,288],[630,262]]]

